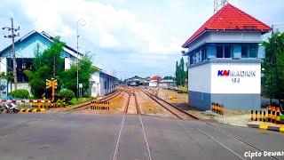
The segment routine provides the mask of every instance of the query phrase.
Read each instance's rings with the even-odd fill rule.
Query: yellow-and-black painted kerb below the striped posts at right
[[[259,128],[261,130],[271,130],[276,132],[284,132],[284,124],[273,124],[260,121],[252,121],[248,123],[248,127]]]

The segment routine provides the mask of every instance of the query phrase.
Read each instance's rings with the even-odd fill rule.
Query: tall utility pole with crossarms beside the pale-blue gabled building
[[[12,68],[13,68],[13,76],[14,76],[14,89],[17,90],[17,62],[16,62],[16,55],[15,55],[15,36],[20,36],[20,34],[18,33],[18,35],[15,35],[14,32],[17,32],[18,30],[20,30],[20,27],[18,28],[14,28],[14,24],[13,24],[13,20],[11,18],[11,28],[8,27],[4,27],[3,29],[7,28],[8,31],[12,31],[12,35],[8,35],[8,36],[4,36],[4,37],[8,37],[8,38],[12,38]]]

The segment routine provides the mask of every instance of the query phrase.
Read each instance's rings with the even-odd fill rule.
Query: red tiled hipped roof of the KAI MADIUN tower
[[[182,47],[200,36],[205,30],[270,30],[271,27],[256,20],[246,12],[241,11],[232,4],[226,4],[220,11],[207,20]]]

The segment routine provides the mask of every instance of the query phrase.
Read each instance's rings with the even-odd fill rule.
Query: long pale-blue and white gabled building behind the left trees
[[[48,35],[46,32],[37,32],[32,30],[26,36],[22,36],[19,40],[15,42],[15,54],[16,54],[16,70],[17,70],[17,80],[18,89],[25,89],[30,91],[28,86],[28,76],[23,73],[24,69],[34,70],[33,60],[35,57],[34,51],[36,46],[40,46],[40,52],[43,52],[53,43],[54,37]],[[75,64],[76,59],[82,60],[83,54],[76,52],[75,49],[68,46],[67,44],[63,47],[62,58],[64,58],[64,65],[62,68],[68,69],[71,65]],[[12,44],[4,48],[0,52],[0,72],[7,74],[12,71]],[[90,90],[89,93],[94,95],[105,95],[109,92],[113,92],[115,88],[116,77],[110,76],[98,68],[99,71],[91,76],[90,79]],[[80,74],[80,73],[79,73]],[[99,80],[95,80],[99,79]],[[80,83],[80,82],[79,82]],[[8,92],[14,90],[14,85],[8,84]],[[95,89],[94,89],[95,88]]]

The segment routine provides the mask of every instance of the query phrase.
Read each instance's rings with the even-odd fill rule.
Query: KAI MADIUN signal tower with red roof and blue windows
[[[261,106],[262,36],[271,27],[226,4],[182,45],[188,58],[189,105],[204,110],[211,103],[225,109]]]

